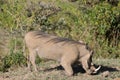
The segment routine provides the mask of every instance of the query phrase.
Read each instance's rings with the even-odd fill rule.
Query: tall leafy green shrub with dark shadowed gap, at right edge
[[[99,3],[95,5],[89,13],[91,30],[99,44],[99,49],[106,51],[102,54],[104,57],[108,55],[112,57],[118,56],[120,42],[120,8],[112,6],[108,3]],[[117,51],[115,51],[117,50]],[[102,51],[101,51],[102,52]],[[108,53],[108,54],[107,54]],[[112,55],[112,56],[111,56]]]

